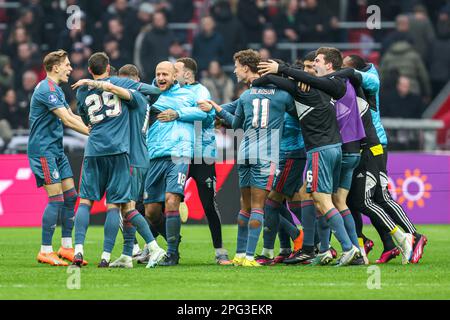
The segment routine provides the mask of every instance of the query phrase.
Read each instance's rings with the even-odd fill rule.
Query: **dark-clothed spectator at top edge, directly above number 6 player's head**
[[[298,20],[298,36],[302,42],[333,41],[337,18],[326,8],[319,8],[317,0],[301,1]]]

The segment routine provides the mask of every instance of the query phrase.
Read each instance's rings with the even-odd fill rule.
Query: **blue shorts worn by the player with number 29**
[[[81,170],[80,198],[98,201],[106,192],[106,203],[131,200],[131,173],[128,154],[85,157]]]

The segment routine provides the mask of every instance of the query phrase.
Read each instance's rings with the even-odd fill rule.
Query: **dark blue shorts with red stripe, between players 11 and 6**
[[[305,169],[305,158],[280,159],[278,174],[273,189],[285,196],[292,197],[300,190],[303,184],[303,170]]]

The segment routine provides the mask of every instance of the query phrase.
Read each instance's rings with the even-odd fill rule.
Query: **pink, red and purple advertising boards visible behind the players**
[[[78,185],[83,155],[68,154]],[[0,227],[40,226],[47,203],[36,188],[26,155],[0,155]],[[217,164],[217,202],[225,224],[234,224],[239,210],[236,166]],[[414,223],[450,224],[450,154],[390,153],[389,187]],[[187,182],[188,223],[206,223],[193,181]],[[92,224],[104,221],[104,199],[93,207]]]

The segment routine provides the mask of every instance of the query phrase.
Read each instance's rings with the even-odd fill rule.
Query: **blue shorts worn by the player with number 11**
[[[239,164],[239,186],[271,191],[277,173],[277,164],[259,160],[256,164]]]

